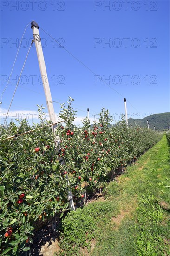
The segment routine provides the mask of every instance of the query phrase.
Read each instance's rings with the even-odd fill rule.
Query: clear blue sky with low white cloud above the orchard
[[[0,94],[7,85],[22,34],[27,24],[35,20],[63,46],[58,47],[39,29],[52,100],[63,103],[71,96],[75,100],[73,107],[79,109],[77,123],[86,116],[87,108],[91,121],[101,108],[109,109],[118,121],[124,113],[124,97],[128,117],[144,118],[170,111],[168,0],[2,0],[0,4]],[[1,123],[32,38],[29,25],[3,93]],[[30,113],[37,111],[36,104],[46,107],[33,45],[10,116],[22,118],[26,113],[31,121]],[[59,108],[59,103],[54,103],[56,113]]]

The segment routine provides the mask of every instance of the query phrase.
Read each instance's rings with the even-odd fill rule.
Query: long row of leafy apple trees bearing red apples
[[[76,111],[61,105],[58,125],[61,148],[56,151],[54,135],[39,107],[40,124],[13,122],[4,128],[0,140],[0,254],[18,255],[29,250],[35,222],[45,221],[68,208],[68,190],[82,196],[85,182],[91,188],[103,186],[110,169],[127,165],[132,158],[152,147],[161,136],[139,127],[127,128],[123,120],[110,128],[108,111],[102,109],[99,124],[90,130],[87,118],[81,128],[73,124]],[[30,129],[32,133],[19,135]],[[60,165],[64,158],[65,164]],[[58,161],[59,159],[59,161]],[[67,179],[68,175],[68,179]],[[7,232],[7,234],[6,234]],[[6,234],[6,235],[5,235]]]

